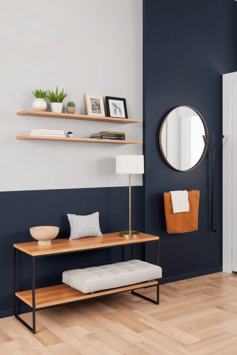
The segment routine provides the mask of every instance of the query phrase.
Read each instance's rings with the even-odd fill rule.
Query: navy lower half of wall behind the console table
[[[132,186],[131,197],[132,228],[141,231],[142,186]],[[128,187],[9,191],[0,192],[0,199],[0,318],[14,314],[13,244],[34,241],[30,227],[55,225],[59,227],[57,238],[68,238],[67,213],[86,215],[98,211],[102,233],[129,228]],[[141,257],[139,246],[135,253]],[[36,288],[61,284],[65,270],[130,259],[130,246],[36,258]],[[31,257],[21,252],[17,252],[17,280],[18,291],[31,289]],[[29,312],[29,308],[23,311]]]

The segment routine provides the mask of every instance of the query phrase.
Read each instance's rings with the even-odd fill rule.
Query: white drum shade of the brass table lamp
[[[116,155],[116,174],[144,174],[144,155]]]

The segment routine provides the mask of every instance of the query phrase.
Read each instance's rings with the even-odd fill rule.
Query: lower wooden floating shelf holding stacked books
[[[118,139],[95,139],[95,138],[70,138],[70,137],[50,137],[50,136],[17,136],[16,139],[31,139],[38,141],[67,141],[67,142],[86,142],[86,143],[112,143],[112,144],[139,144],[141,141],[120,141]]]

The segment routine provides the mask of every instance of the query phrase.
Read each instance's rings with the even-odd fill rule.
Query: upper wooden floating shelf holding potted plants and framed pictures
[[[98,122],[113,122],[113,123],[138,123],[141,120],[133,120],[129,118],[115,118],[115,117],[101,117],[101,116],[88,116],[88,115],[72,115],[69,113],[57,113],[49,111],[34,111],[24,110],[16,113],[22,116],[38,116],[38,117],[52,117],[52,118],[66,118],[71,120],[83,121],[98,121]]]

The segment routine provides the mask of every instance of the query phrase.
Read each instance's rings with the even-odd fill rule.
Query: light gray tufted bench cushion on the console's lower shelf
[[[83,293],[136,284],[150,279],[160,279],[160,266],[141,260],[87,267],[63,272],[63,283]]]

